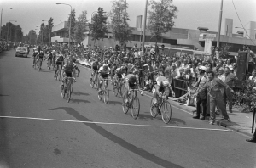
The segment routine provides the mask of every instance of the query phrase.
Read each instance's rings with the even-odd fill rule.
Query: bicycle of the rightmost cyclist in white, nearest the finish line
[[[161,96],[164,93],[170,92],[160,92]],[[172,106],[170,102],[167,101],[167,98],[160,98],[160,103],[156,106],[154,105],[154,98],[151,99],[150,104],[150,114],[152,117],[156,117],[157,115],[162,115],[162,120],[168,124],[172,118]]]

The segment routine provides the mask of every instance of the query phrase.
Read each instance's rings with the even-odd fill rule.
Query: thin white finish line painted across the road
[[[137,125],[137,124],[125,124],[125,123],[93,122],[93,121],[82,121],[82,120],[56,120],[56,119],[17,117],[17,116],[0,116],[0,118],[27,119],[27,120],[50,120],[50,121],[75,122],[75,123],[87,123],[87,124],[119,125],[119,126],[148,126],[148,127],[162,127],[162,128],[178,128],[178,129],[230,132],[230,130],[210,129],[210,128],[181,127],[181,126],[152,126],[152,125]]]

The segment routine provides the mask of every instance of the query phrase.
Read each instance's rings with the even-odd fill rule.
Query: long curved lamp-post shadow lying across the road
[[[67,112],[67,114],[72,115],[74,118],[80,121],[91,121],[88,118],[86,118],[83,115],[80,115],[78,111],[74,110],[73,108],[70,107],[59,107],[55,109],[49,109],[49,110],[58,110],[58,109],[63,109]],[[170,161],[163,160],[159,158],[158,156],[154,154],[150,154],[146,150],[143,150],[143,148],[137,148],[135,145],[126,142],[124,139],[117,137],[113,135],[113,133],[108,132],[107,130],[103,129],[101,126],[98,126],[93,123],[84,123],[84,125],[89,126],[91,129],[95,130],[97,133],[102,135],[103,137],[108,138],[108,140],[112,141],[113,143],[119,144],[121,147],[126,148],[127,150],[131,151],[134,154],[138,154],[141,157],[143,157],[146,160],[149,160],[151,162],[154,162],[154,164],[163,166],[163,167],[172,167],[172,168],[181,168],[182,166],[176,165]]]

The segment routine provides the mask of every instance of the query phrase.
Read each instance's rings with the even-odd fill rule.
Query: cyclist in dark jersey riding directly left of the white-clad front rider
[[[134,70],[132,74],[128,74],[125,76],[125,104],[129,103],[128,100],[128,94],[131,93],[131,89],[136,89],[138,88],[138,78],[137,78],[137,70]],[[136,92],[137,94],[137,92]],[[143,96],[143,92],[141,91],[141,95]],[[131,100],[130,100],[131,101]]]

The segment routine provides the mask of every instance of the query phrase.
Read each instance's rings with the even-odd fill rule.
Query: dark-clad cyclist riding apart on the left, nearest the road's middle
[[[67,60],[67,64],[64,64],[64,66],[62,68],[63,80],[61,81],[61,89],[63,89],[63,87],[64,87],[64,82],[67,83],[67,77],[73,77],[72,76],[73,70],[77,70],[78,71],[78,76],[77,77],[79,77],[80,70],[79,70],[78,66],[73,63],[73,60],[70,57]]]

